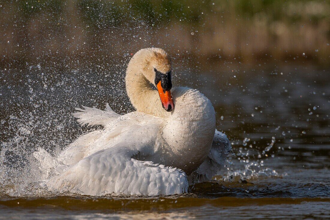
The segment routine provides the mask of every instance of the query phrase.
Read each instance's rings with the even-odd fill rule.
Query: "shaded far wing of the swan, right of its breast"
[[[199,181],[209,181],[223,166],[231,145],[227,135],[215,129],[211,150],[205,161],[196,170]]]

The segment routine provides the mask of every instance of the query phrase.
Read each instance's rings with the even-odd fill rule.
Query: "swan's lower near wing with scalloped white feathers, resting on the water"
[[[186,174],[177,168],[133,159],[150,146],[132,149],[116,146],[100,150],[54,176],[47,186],[59,192],[83,195],[170,195],[187,192]]]

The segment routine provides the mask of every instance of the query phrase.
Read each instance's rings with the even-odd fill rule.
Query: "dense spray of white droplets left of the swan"
[[[108,71],[94,74],[93,67],[85,68],[83,71],[87,73],[84,74],[72,70],[65,75],[54,75],[52,70],[36,66],[27,74],[12,71],[13,79],[6,81],[11,86],[7,90],[2,87],[1,104],[5,110],[1,120],[2,193],[29,195],[33,192],[30,187],[36,187],[44,178],[44,170],[40,169],[32,153],[43,148],[55,156],[86,132],[86,128],[81,128],[72,116],[75,107],[82,104],[102,106],[105,102],[102,96],[103,100],[108,100],[105,96],[121,96],[120,104],[113,98],[114,109],[117,112],[132,110],[122,92],[123,74],[112,75],[121,80],[108,87],[103,83],[104,79],[112,80]]]

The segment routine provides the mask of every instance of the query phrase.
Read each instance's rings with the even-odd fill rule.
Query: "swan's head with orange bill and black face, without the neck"
[[[170,56],[160,48],[146,48],[138,51],[130,63],[140,63],[140,72],[155,86],[163,108],[170,112],[174,109],[172,89],[172,65]]]

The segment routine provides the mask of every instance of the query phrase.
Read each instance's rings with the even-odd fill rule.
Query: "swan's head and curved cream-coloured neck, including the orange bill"
[[[168,112],[174,109],[170,91],[171,70],[171,59],[160,48],[142,49],[131,58],[126,70],[126,91],[138,111],[154,114],[160,112],[159,107]],[[156,87],[156,90],[150,83]],[[155,105],[156,99],[158,105]]]

